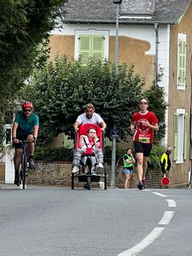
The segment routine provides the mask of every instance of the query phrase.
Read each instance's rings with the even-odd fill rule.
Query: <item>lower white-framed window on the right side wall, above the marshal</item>
[[[186,160],[188,153],[188,131],[189,131],[189,116],[185,113],[185,109],[177,109],[174,114],[174,152],[173,160],[176,164],[183,163]]]

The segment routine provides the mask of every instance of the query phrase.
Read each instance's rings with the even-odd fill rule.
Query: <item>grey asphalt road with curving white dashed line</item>
[[[192,255],[190,189],[0,186],[0,255]]]

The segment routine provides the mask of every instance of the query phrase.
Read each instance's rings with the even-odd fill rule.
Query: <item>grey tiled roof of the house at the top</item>
[[[119,15],[122,15],[123,5],[127,0],[122,0],[119,6]],[[140,0],[141,1],[141,0]],[[136,0],[129,0],[133,4]],[[148,1],[150,2],[150,1]],[[119,23],[132,24],[176,24],[189,8],[192,0],[154,0],[154,15],[152,19],[119,19]],[[68,0],[63,9],[65,23],[115,23],[116,4],[113,0]]]

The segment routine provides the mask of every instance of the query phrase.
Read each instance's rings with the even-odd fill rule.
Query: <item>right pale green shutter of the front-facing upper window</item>
[[[104,56],[104,38],[102,36],[92,36],[92,56],[102,59]]]

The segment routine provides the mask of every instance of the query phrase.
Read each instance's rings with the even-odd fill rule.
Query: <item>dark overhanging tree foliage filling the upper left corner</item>
[[[66,0],[0,0],[0,130],[32,67],[47,61],[49,32],[62,17]],[[41,53],[39,55],[39,53]],[[3,134],[1,133],[1,137]]]

